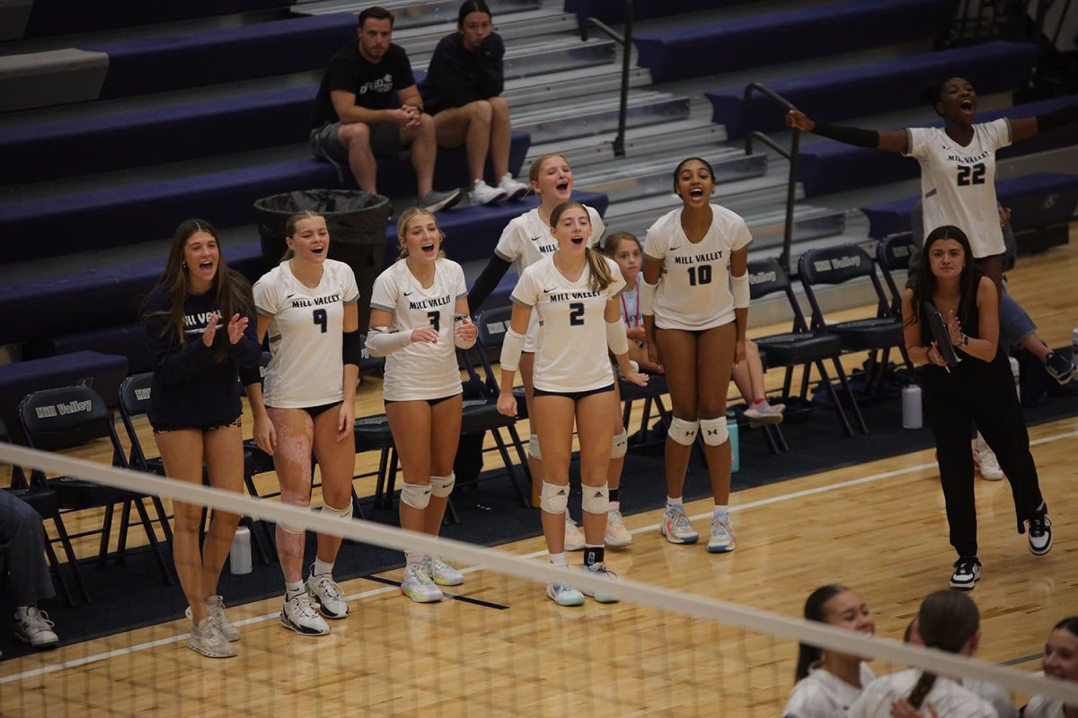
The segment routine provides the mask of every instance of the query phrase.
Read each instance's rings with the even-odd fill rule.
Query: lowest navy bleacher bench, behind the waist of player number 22
[[[1015,231],[1068,222],[1078,208],[1078,174],[1038,172],[996,182],[996,196],[1010,207]],[[869,236],[882,239],[910,229],[910,211],[917,198],[906,197],[862,207],[869,217]]]

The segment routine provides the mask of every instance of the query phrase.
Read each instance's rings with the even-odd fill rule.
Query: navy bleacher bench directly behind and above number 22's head
[[[987,42],[776,80],[768,86],[813,119],[832,122],[912,107],[924,87],[956,75],[972,81],[982,95],[1022,87],[1038,52],[1034,44]],[[711,121],[725,125],[731,138],[785,128],[780,108],[759,97],[746,104],[744,91],[741,86],[705,93]]]

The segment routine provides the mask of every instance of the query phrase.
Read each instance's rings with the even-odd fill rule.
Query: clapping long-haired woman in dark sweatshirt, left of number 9
[[[148,416],[169,478],[239,492],[244,485],[239,381],[258,383],[262,352],[250,323],[251,287],[224,264],[204,220],[176,230],[165,272],[143,305],[154,361]],[[177,502],[172,552],[188,599],[188,646],[210,658],[236,654],[239,632],[224,616],[217,582],[239,517],[213,511],[199,550],[202,506]]]

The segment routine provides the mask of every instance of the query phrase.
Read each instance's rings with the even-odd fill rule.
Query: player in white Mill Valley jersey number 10
[[[708,203],[711,166],[697,157],[674,171],[681,209],[660,217],[644,243],[640,305],[648,353],[666,369],[674,419],[666,437],[666,511],[660,524],[672,544],[695,544],[681,490],[699,432],[715,493],[707,550],[733,551],[730,523],[731,451],[727,390],[735,363],[745,361],[748,321],[748,243],[745,221]]]

